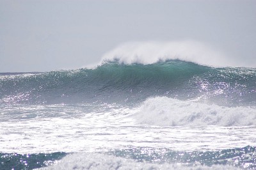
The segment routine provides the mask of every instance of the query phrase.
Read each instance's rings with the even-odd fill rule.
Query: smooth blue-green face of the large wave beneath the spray
[[[256,105],[255,68],[214,68],[186,61],[150,65],[105,63],[94,69],[0,75],[0,102],[60,104],[122,102],[152,96],[220,105]]]

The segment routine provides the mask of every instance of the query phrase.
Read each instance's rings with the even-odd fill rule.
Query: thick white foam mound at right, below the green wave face
[[[148,98],[136,115],[140,124],[158,126],[256,125],[256,108],[221,107],[168,97]]]

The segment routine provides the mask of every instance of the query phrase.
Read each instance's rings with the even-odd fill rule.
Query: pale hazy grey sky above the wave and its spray
[[[84,68],[125,43],[188,40],[256,67],[255,9],[254,0],[0,0],[0,72]]]

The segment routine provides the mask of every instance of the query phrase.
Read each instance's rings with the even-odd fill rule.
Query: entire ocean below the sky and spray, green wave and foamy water
[[[0,169],[256,169],[256,68],[0,73]]]

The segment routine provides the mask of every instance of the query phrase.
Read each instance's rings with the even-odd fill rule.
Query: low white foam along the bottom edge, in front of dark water
[[[49,167],[42,169],[237,169],[232,166],[182,166],[180,164],[150,164],[136,162],[129,158],[120,158],[100,153],[74,153]]]

